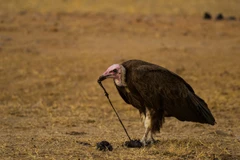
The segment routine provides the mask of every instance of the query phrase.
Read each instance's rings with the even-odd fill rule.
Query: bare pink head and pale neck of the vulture
[[[125,77],[125,68],[121,64],[113,64],[99,77],[98,82],[107,78],[113,78],[117,85],[123,85]]]

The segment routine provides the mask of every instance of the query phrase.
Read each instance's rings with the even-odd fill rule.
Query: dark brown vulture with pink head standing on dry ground
[[[180,76],[142,60],[111,65],[99,81],[112,78],[122,99],[139,110],[145,127],[143,145],[155,142],[165,117],[214,125],[208,105]]]

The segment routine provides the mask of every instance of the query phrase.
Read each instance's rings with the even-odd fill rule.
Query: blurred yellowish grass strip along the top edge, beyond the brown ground
[[[0,12],[108,12],[165,15],[202,15],[223,13],[240,16],[239,0],[0,0]]]

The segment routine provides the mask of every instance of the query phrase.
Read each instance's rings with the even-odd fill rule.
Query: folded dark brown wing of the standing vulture
[[[164,110],[182,121],[214,124],[207,104],[178,75],[154,65],[141,65],[131,72],[134,87],[149,108]],[[128,82],[131,83],[131,82]]]

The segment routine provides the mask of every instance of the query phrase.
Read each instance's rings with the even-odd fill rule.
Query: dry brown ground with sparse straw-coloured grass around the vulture
[[[1,12],[0,159],[240,159],[240,21],[97,12]],[[215,126],[167,118],[141,149],[127,137],[97,79],[142,59],[182,76],[208,103]],[[138,111],[104,81],[132,138]],[[107,140],[112,152],[96,150]]]

